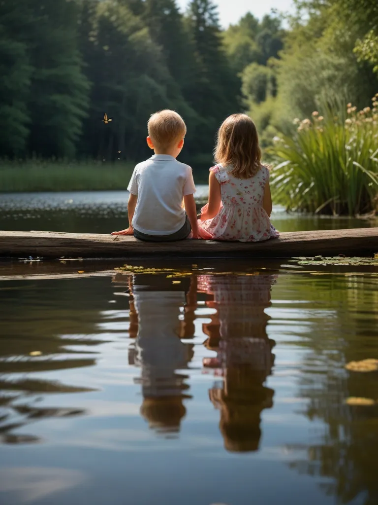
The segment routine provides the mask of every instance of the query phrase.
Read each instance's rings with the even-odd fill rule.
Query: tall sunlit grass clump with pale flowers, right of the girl
[[[346,118],[346,119],[345,119]],[[269,154],[274,201],[288,210],[356,216],[374,211],[378,195],[378,93],[372,108],[313,112],[294,120],[292,137]]]

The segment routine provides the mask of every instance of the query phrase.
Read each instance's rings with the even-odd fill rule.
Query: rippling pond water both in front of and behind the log
[[[109,231],[125,196],[7,195],[0,227]],[[376,267],[120,266],[0,262],[2,505],[378,503],[378,372],[345,368],[378,359]]]

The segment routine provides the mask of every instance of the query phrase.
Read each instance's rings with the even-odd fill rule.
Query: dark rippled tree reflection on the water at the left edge
[[[70,296],[61,286],[49,281],[36,291],[30,281],[22,285],[16,281],[0,290],[0,443],[40,442],[38,436],[18,430],[37,420],[86,413],[84,409],[39,404],[49,394],[93,391],[38,377],[46,372],[94,366],[93,357],[79,356],[73,347],[91,348],[102,342],[90,336],[101,320],[98,308],[103,305],[102,293],[94,302],[93,297],[85,297],[85,284],[77,283]],[[31,356],[35,350],[39,356]]]

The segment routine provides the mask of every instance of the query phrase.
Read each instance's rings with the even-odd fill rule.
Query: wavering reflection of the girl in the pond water
[[[261,412],[273,406],[274,391],[264,386],[274,364],[264,309],[271,305],[275,281],[274,275],[198,278],[199,291],[211,295],[207,305],[217,310],[204,325],[206,345],[217,356],[203,363],[223,377],[222,385],[210,390],[210,399],[220,410],[220,431],[229,451],[259,448]]]

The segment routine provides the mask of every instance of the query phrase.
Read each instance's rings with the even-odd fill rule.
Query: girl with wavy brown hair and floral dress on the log
[[[245,114],[228,117],[218,131],[217,165],[210,169],[209,203],[201,209],[200,236],[240,242],[279,236],[269,219],[269,171],[260,159],[255,123]]]

